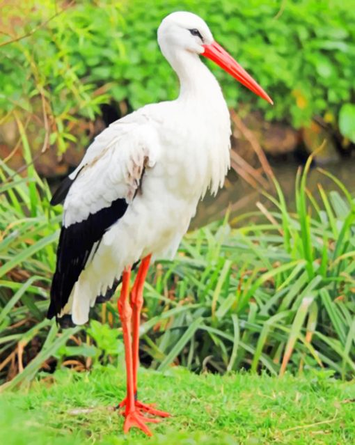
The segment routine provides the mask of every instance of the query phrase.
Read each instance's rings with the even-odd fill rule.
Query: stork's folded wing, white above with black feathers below
[[[54,194],[53,204],[65,201],[49,318],[68,303],[102,236],[123,217],[145,168],[152,167],[156,157],[155,130],[147,118],[134,113],[97,136],[81,164]]]

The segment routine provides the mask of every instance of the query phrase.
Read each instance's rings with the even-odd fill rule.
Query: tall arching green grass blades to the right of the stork
[[[195,370],[250,367],[283,375],[290,365],[300,372],[326,366],[354,375],[355,201],[333,178],[341,194],[327,196],[319,187],[319,204],[306,189],[310,162],[297,178],[296,214],[275,182],[278,198],[267,195],[275,210],[263,208],[270,222],[251,222],[260,213],[242,215],[239,229],[210,226],[185,237],[164,279],[146,292],[163,293],[174,282],[178,300],[143,327],[174,315],[148,346],[153,366],[166,369],[166,357],[180,354],[189,331],[178,357]],[[183,297],[189,304],[181,305]],[[159,311],[154,299],[147,304],[148,313]]]

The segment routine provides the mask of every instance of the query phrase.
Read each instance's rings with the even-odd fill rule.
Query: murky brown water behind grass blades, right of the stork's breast
[[[281,184],[285,200],[290,210],[294,209],[294,181],[296,179],[298,164],[295,162],[281,162],[271,165]],[[323,168],[323,167],[322,167]],[[329,171],[340,179],[349,192],[355,192],[355,159],[345,159],[341,162],[327,164],[324,170]],[[310,170],[307,186],[310,192],[319,196],[318,184],[322,185],[326,192],[339,190],[334,182],[319,172],[317,166]],[[271,190],[271,189],[270,189]],[[226,184],[217,194],[216,198],[206,196],[198,206],[196,217],[191,223],[191,228],[204,226],[216,219],[223,218],[226,209],[230,208],[232,216],[245,212],[258,210],[256,203],[267,201],[260,192],[256,192],[244,180],[239,178],[234,171],[230,171]]]

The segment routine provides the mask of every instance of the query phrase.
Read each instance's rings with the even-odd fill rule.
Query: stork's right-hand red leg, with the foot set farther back
[[[133,370],[133,382],[134,382],[134,397],[136,408],[141,411],[152,414],[153,416],[168,417],[168,412],[155,409],[154,405],[146,405],[145,403],[137,400],[137,373],[139,368],[139,325],[141,322],[141,309],[143,306],[143,287],[145,278],[148,273],[151,254],[145,256],[139,266],[139,271],[134,281],[134,286],[131,292],[131,308],[132,308],[132,330],[133,330],[133,343],[132,343],[132,370]],[[120,407],[127,407],[127,400],[125,399],[120,403]]]

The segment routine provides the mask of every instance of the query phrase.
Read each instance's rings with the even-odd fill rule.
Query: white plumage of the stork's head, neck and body
[[[200,35],[193,35],[197,31]],[[189,32],[190,31],[190,32]],[[112,123],[70,175],[63,227],[86,221],[118,198],[128,203],[118,221],[93,244],[84,270],[58,317],[88,320],[125,267],[152,253],[173,258],[201,196],[216,193],[230,165],[230,118],[221,88],[200,61],[214,42],[207,24],[173,13],[158,30],[161,52],[177,73],[176,100],[149,104]]]

